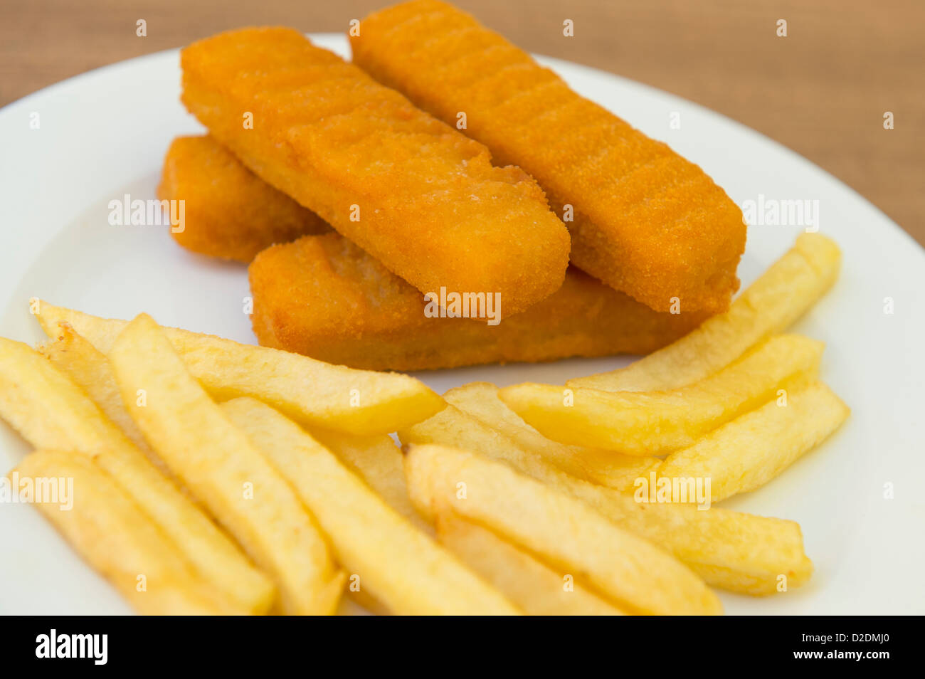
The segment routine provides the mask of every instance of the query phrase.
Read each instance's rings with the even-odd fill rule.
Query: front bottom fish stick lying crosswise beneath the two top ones
[[[371,370],[648,353],[705,317],[652,311],[574,268],[559,290],[499,325],[438,317],[419,290],[333,233],[265,250],[250,278],[261,344]]]

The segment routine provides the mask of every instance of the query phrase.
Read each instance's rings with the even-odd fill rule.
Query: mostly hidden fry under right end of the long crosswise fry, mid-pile
[[[415,511],[408,497],[401,449],[390,436],[379,434],[356,437],[323,429],[310,430],[309,433],[328,451],[337,455],[339,461],[353,474],[360,476],[389,507],[427,535],[433,535],[434,526]]]

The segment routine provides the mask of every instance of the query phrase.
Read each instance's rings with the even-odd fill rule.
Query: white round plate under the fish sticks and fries
[[[349,56],[339,35],[316,43]],[[857,193],[753,130],[697,105],[592,68],[543,58],[579,93],[697,162],[738,204],[820,203],[820,230],[844,271],[797,331],[827,344],[824,379],[853,409],[847,424],[771,485],[729,500],[794,519],[816,564],[783,596],[722,595],[730,613],[925,613],[925,253]],[[30,127],[33,113],[40,127]],[[680,129],[672,129],[672,114]],[[676,119],[676,118],[675,118]],[[179,104],[177,51],[66,80],[0,111],[0,335],[43,339],[27,301],[105,316],[146,311],[160,323],[253,342],[245,267],[179,248],[166,228],[112,227],[107,203],[153,198],[169,142],[201,126]],[[890,134],[884,130],[883,134]],[[850,140],[845,143],[850,144]],[[752,227],[747,285],[800,228]],[[884,298],[894,314],[884,314]],[[471,380],[562,383],[628,359],[483,366],[421,374],[442,392]],[[0,471],[28,446],[0,424]],[[884,499],[884,484],[894,499]],[[128,607],[22,505],[0,505],[0,612],[121,613]]]

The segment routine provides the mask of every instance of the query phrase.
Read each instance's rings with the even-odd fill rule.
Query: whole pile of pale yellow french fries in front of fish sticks
[[[709,478],[720,502],[845,421],[821,343],[780,334],[839,260],[801,235],[727,313],[622,370],[443,398],[38,302],[48,342],[0,339],[0,417],[35,449],[19,478],[74,479],[69,511],[36,506],[142,613],[719,613],[714,587],[808,581],[799,525],[641,502],[637,480]]]

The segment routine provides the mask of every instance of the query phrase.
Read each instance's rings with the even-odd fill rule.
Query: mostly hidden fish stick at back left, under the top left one
[[[170,229],[180,245],[244,264],[274,243],[331,230],[209,136],[178,137],[170,144],[157,197],[184,202],[183,228]]]

